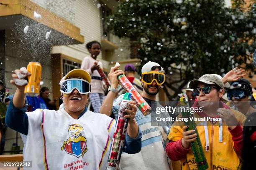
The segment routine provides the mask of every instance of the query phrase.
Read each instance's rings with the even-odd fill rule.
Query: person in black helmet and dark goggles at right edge
[[[256,102],[251,83],[248,80],[241,78],[231,82],[230,88],[227,89],[227,96],[228,100],[232,100],[238,111],[244,115],[248,116],[252,112],[256,112],[256,108],[254,108]]]

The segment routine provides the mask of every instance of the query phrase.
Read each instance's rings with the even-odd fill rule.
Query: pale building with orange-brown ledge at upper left
[[[9,82],[15,69],[28,62],[42,65],[42,86],[49,87],[50,98],[58,101],[59,81],[74,68],[79,68],[84,57],[90,55],[85,45],[97,40],[102,52],[98,56],[108,71],[111,64],[128,62],[129,40],[105,31],[105,17],[113,13],[116,0],[0,0],[0,78],[5,80],[10,94],[15,88]],[[36,15],[35,15],[36,12]],[[24,28],[28,25],[27,33]],[[51,31],[48,39],[46,32]],[[56,102],[58,105],[58,103]],[[16,143],[16,132],[8,128],[5,150]],[[23,142],[18,134],[18,144]]]

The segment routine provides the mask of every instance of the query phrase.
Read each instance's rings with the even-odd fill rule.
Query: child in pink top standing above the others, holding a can
[[[81,65],[81,69],[86,70],[92,77],[92,92],[89,94],[89,99],[95,113],[100,112],[100,106],[104,100],[105,88],[102,82],[102,77],[97,71],[100,67],[103,68],[103,64],[100,60],[97,60],[97,56],[100,54],[101,45],[100,42],[91,41],[86,44],[87,50],[90,52],[90,56],[84,57]],[[95,63],[97,63],[95,65]]]

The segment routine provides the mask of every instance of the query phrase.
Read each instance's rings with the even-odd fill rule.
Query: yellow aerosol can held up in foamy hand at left
[[[25,87],[24,93],[28,96],[37,96],[40,91],[40,81],[41,81],[41,73],[42,67],[39,62],[29,62],[27,66],[28,72],[31,73],[28,76],[28,84]]]

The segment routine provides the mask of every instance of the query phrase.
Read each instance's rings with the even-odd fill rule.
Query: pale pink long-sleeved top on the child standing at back
[[[94,65],[95,62],[98,62],[100,67],[103,68],[103,64],[100,60],[94,60],[91,56],[84,57],[82,61],[81,68],[89,72],[92,77],[92,93],[101,93],[104,94],[104,86],[102,80],[93,79],[93,77],[100,77],[98,70],[91,71],[91,67]]]

